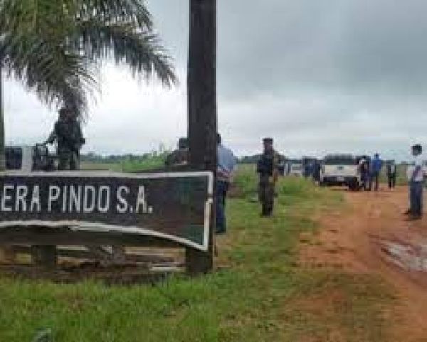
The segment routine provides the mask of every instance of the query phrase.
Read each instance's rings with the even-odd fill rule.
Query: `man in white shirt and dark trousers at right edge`
[[[423,148],[421,145],[412,146],[413,165],[408,167],[409,182],[409,220],[419,220],[423,216],[424,174],[423,174]]]

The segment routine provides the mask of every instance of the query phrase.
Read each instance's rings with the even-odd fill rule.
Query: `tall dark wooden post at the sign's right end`
[[[216,172],[216,0],[190,0],[188,64],[189,162],[193,169]],[[214,191],[215,193],[215,191]],[[215,205],[209,251],[186,249],[189,274],[214,266]]]

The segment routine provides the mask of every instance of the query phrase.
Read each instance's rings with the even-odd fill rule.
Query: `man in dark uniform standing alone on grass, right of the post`
[[[273,149],[273,139],[263,139],[264,152],[258,161],[256,172],[260,176],[259,198],[263,216],[273,214],[275,183],[278,178],[278,154]]]

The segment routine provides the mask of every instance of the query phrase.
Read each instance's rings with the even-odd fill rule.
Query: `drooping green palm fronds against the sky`
[[[127,65],[137,78],[176,82],[143,0],[0,0],[0,50],[9,76],[81,116],[102,60]]]

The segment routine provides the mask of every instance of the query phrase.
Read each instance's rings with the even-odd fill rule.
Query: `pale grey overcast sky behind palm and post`
[[[187,0],[149,0],[180,85],[106,64],[85,152],[143,153],[186,134]],[[272,136],[288,156],[427,147],[427,1],[218,0],[218,124],[236,154]],[[56,113],[5,86],[6,142],[46,139]]]

